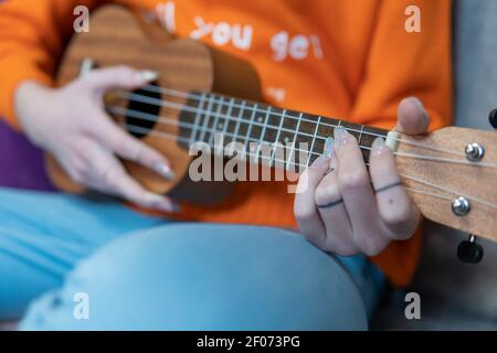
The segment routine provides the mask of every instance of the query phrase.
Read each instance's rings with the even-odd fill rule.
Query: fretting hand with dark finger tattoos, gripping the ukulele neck
[[[395,130],[426,132],[427,114],[416,98],[399,106]],[[329,157],[329,158],[328,158]],[[299,179],[294,213],[300,232],[319,248],[338,254],[381,253],[392,240],[408,239],[420,212],[401,184],[392,151],[374,140],[369,174],[356,138],[335,130],[335,148],[319,157]]]

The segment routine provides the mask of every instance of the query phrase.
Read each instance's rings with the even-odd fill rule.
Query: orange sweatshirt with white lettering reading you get
[[[250,61],[271,104],[392,128],[399,101],[413,95],[431,129],[450,124],[450,0],[8,0],[0,4],[0,115],[12,126],[19,83],[53,84],[74,8],[107,2],[150,11],[165,31]],[[240,183],[219,207],[184,208],[193,221],[296,227],[284,182]],[[403,286],[419,250],[417,235],[373,261]]]

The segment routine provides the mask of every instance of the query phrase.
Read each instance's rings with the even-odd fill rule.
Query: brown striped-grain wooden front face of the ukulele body
[[[76,78],[84,58],[92,58],[97,67],[129,65],[138,69],[152,69],[159,74],[158,85],[182,90],[210,90],[213,85],[212,60],[209,50],[191,41],[150,42],[144,26],[154,25],[140,21],[120,7],[105,7],[92,14],[91,31],[75,35],[62,61],[57,83],[64,85]],[[178,103],[181,103],[180,99]],[[162,107],[160,116],[178,118],[179,111]],[[124,119],[124,117],[120,117]],[[177,133],[175,125],[156,125],[156,130]],[[149,135],[142,139],[159,151],[167,151],[173,161],[175,179],[166,181],[141,165],[124,161],[128,172],[148,190],[165,193],[186,175],[190,157],[175,140]],[[49,160],[47,170],[55,184],[66,191],[82,191],[61,168]]]

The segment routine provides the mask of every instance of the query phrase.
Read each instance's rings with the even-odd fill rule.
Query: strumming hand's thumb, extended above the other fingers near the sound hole
[[[158,74],[154,71],[138,71],[123,65],[91,71],[84,78],[93,88],[104,92],[112,88],[137,88],[157,77]]]

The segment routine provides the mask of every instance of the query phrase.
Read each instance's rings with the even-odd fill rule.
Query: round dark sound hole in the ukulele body
[[[158,87],[157,83],[151,83],[150,86]],[[136,89],[133,92],[126,114],[126,129],[136,138],[146,137],[157,124],[160,105],[156,99],[161,99],[159,90]]]

